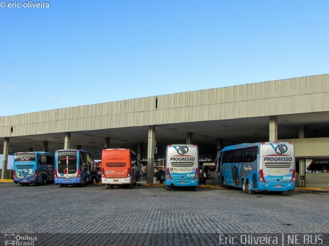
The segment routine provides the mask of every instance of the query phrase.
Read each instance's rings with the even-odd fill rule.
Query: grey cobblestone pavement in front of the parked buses
[[[104,233],[116,233],[119,241],[127,235],[146,240],[136,245],[175,245],[182,240],[198,244],[204,235],[222,233],[329,233],[327,192],[248,195],[234,189],[193,192],[0,183],[0,197],[0,233],[63,233],[62,238],[66,233],[99,233],[95,235],[100,245]],[[173,236],[161,241],[154,233]],[[193,235],[199,236],[193,240]]]

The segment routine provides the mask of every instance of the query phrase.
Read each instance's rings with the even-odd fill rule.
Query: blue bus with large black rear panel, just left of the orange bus
[[[55,152],[55,183],[59,187],[85,186],[92,182],[94,161],[84,150],[57,150]]]

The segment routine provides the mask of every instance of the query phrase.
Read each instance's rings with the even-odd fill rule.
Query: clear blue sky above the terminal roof
[[[0,8],[0,116],[329,72],[329,1],[48,3]]]

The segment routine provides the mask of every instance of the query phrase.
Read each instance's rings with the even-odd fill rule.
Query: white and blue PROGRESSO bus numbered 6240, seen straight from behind
[[[166,153],[166,190],[198,186],[198,149],[196,145],[169,145]]]

